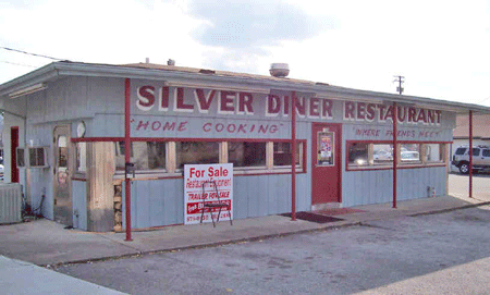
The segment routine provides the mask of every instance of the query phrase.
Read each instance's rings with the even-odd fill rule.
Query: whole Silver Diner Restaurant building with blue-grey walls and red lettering
[[[396,207],[448,194],[456,114],[490,111],[272,74],[48,64],[0,85],[5,182],[96,232],[183,224],[185,164],[233,164],[234,219]]]

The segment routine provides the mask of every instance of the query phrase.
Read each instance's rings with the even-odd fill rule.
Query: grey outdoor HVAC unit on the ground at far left
[[[22,221],[22,185],[0,185],[0,224]]]

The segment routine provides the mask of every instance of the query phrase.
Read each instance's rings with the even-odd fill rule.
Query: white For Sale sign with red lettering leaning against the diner
[[[216,185],[216,188],[215,188]],[[203,190],[204,186],[204,190]],[[218,207],[205,207],[206,202],[224,202],[220,220],[233,219],[233,164],[186,164],[184,165],[184,224],[211,222],[211,213],[218,219]]]

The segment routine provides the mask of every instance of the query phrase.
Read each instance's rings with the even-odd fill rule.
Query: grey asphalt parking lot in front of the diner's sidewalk
[[[131,294],[486,294],[489,222],[481,206],[57,271]]]

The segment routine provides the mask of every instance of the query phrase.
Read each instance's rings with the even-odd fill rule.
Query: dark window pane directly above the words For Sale
[[[180,142],[175,143],[176,169],[184,164],[212,164],[220,162],[219,143]]]

